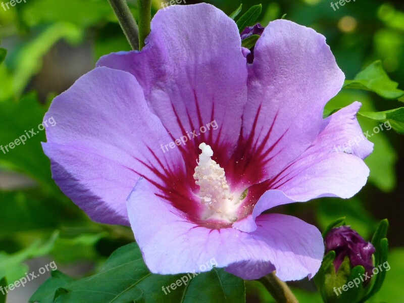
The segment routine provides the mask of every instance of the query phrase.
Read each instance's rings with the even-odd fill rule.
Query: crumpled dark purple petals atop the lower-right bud
[[[369,276],[374,268],[372,255],[376,251],[372,243],[365,241],[349,226],[340,226],[330,230],[325,237],[326,254],[335,251],[334,267],[338,271],[345,256],[348,256],[352,267],[362,265]]]

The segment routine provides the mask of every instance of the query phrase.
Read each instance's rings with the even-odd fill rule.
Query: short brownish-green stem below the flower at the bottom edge
[[[264,284],[265,288],[267,288],[278,303],[298,303],[298,300],[287,284],[281,281],[274,272],[262,277],[258,281]]]

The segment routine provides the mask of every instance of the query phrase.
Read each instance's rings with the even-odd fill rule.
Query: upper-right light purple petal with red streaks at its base
[[[287,20],[269,23],[254,54],[243,136],[262,181],[313,143],[324,106],[340,90],[344,74],[323,35]]]

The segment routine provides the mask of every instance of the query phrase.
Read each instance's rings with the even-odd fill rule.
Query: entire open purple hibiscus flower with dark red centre
[[[310,278],[319,230],[263,212],[349,198],[367,181],[360,104],[323,119],[344,81],[324,36],[275,20],[252,64],[247,54],[222,11],[173,6],[156,14],[141,52],[103,57],[45,116],[58,121],[43,143],[57,184],[92,220],[130,224],[153,273],[215,258],[244,279]],[[217,129],[202,131],[210,122]]]

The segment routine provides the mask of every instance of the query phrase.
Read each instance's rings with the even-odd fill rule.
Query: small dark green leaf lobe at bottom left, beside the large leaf
[[[55,289],[58,289],[65,284],[74,280],[59,270],[51,272],[51,279],[47,279],[35,293],[31,296],[30,302],[53,303],[55,297]]]

